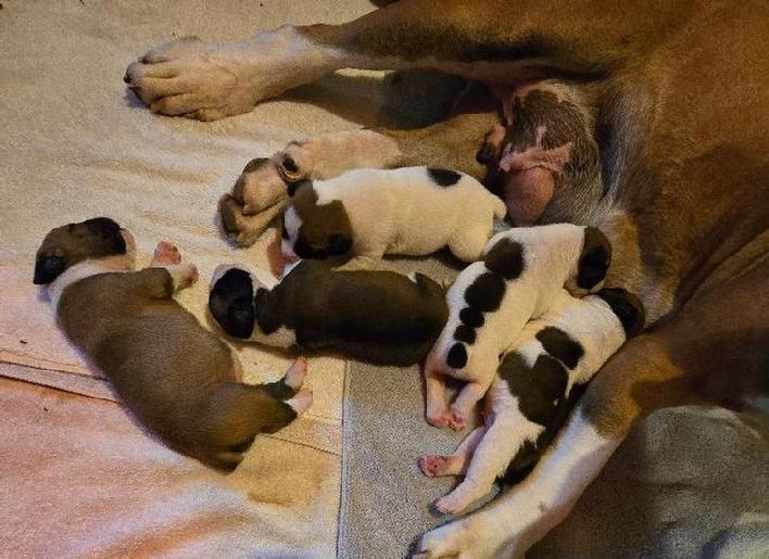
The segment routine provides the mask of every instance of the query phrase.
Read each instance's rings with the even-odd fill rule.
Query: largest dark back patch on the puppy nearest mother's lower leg
[[[502,359],[497,374],[507,382],[510,394],[518,398],[518,408],[527,419],[550,425],[555,417],[558,401],[566,392],[568,374],[564,366],[542,354],[529,367],[517,353]]]

